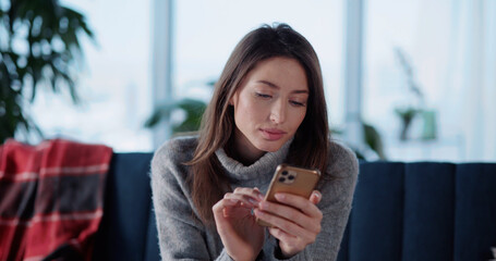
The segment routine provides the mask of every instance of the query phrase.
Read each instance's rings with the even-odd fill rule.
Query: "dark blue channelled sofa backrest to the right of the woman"
[[[489,260],[496,164],[360,164],[339,261]]]

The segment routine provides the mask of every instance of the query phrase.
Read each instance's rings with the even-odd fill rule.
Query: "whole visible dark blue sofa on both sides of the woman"
[[[159,260],[152,153],[116,153],[94,260]],[[496,164],[361,162],[339,261],[492,258]]]

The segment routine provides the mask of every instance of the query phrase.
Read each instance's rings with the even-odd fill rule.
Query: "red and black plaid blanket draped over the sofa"
[[[62,139],[1,146],[0,260],[89,260],[111,157]]]

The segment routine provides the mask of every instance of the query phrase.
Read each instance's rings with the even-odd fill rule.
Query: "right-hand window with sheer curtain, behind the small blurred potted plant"
[[[494,1],[377,0],[365,10],[363,112],[380,130],[388,159],[494,161]],[[411,91],[410,79],[423,99]],[[401,141],[395,110],[408,105],[434,114],[416,114]],[[435,115],[434,139],[423,137],[426,115]]]

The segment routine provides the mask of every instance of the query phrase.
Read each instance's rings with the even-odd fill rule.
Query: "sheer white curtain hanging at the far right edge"
[[[456,0],[451,16],[449,104],[465,161],[496,161],[496,1]]]

